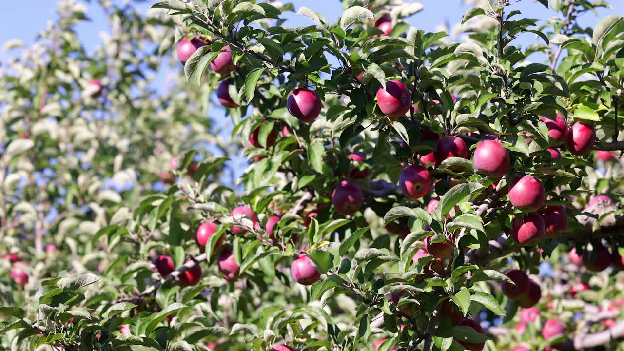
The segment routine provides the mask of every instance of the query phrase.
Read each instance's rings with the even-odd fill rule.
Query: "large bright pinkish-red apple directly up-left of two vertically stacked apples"
[[[509,171],[509,150],[497,140],[484,140],[472,155],[474,167],[489,177],[502,177]]]

